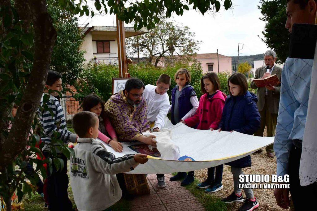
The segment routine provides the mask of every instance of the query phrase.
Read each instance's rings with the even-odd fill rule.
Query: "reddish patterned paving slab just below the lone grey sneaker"
[[[157,194],[164,204],[196,200],[195,196],[193,196],[187,189],[184,189],[183,187],[173,189],[159,189]]]

